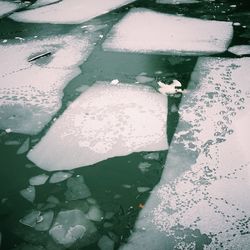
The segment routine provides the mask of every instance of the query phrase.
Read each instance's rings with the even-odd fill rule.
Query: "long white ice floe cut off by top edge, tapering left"
[[[82,23],[131,2],[133,0],[63,0],[15,13],[11,18],[28,23]]]

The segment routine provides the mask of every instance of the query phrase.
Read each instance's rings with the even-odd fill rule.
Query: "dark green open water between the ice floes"
[[[72,3],[73,4],[73,3]],[[230,7],[236,5],[236,7]],[[98,17],[96,20],[107,24],[107,33],[112,25],[122,18],[132,7],[146,7],[163,13],[183,14],[210,20],[225,20],[239,22],[234,26],[234,38],[231,45],[248,44],[250,42],[250,4],[247,1],[207,1],[197,4],[161,5],[154,1],[136,1],[133,4]],[[95,20],[94,20],[95,21]],[[93,21],[90,21],[91,23]],[[82,25],[82,24],[81,24]],[[67,34],[79,25],[25,24],[14,22],[7,17],[0,20],[0,40],[13,39],[16,36],[30,38],[49,37],[55,34]],[[215,55],[218,56],[218,55]],[[226,52],[219,56],[235,57]],[[64,89],[62,108],[56,114],[60,116],[67,105],[79,96],[77,88],[94,82],[119,79],[121,82],[133,82],[134,77],[146,72],[156,80],[171,81],[178,79],[184,83],[184,88],[196,63],[197,57],[175,57],[164,55],[143,55],[104,52],[101,44],[97,44],[93,53],[81,66],[82,73],[73,79]],[[173,63],[177,61],[177,63]],[[162,71],[161,75],[155,74]],[[156,81],[152,83],[156,88]],[[169,114],[167,134],[169,143],[178,123],[178,113],[171,112],[173,104],[178,107],[181,96],[169,97]],[[31,136],[33,146],[46,133],[51,124],[36,136]],[[46,211],[44,204],[48,195],[53,195],[60,203],[53,208],[55,212],[75,207],[88,206],[85,200],[66,201],[64,193],[66,182],[48,184],[36,188],[34,203],[20,196],[19,191],[26,188],[30,177],[44,173],[26,158],[25,154],[17,155],[20,145],[27,136],[0,131],[0,232],[2,233],[1,249],[64,249],[56,245],[47,232],[36,232],[34,229],[19,223],[32,209],[41,208]],[[7,141],[18,141],[20,145],[6,145]],[[112,212],[113,216],[96,222],[98,229],[96,239],[87,245],[73,245],[70,249],[98,249],[97,241],[102,235],[108,235],[118,248],[130,235],[136,217],[145,204],[150,190],[158,183],[167,152],[161,151],[158,159],[145,160],[149,152],[133,153],[124,157],[112,158],[93,166],[72,170],[74,176],[81,175],[91,191],[91,197],[96,200],[103,212]],[[143,173],[138,165],[141,162],[151,164],[149,171]],[[167,166],[166,166],[167,167]],[[49,173],[50,174],[50,173]],[[147,192],[140,193],[137,187],[149,187]],[[87,208],[86,208],[87,209]],[[105,224],[106,223],[106,224]],[[109,224],[107,224],[109,223]],[[109,225],[108,227],[106,227]],[[30,248],[28,248],[30,247]],[[202,247],[201,247],[202,248]]]

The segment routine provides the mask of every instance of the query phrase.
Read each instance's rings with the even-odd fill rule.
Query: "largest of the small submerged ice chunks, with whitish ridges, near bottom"
[[[49,231],[55,242],[67,247],[79,240],[88,242],[95,232],[94,224],[77,209],[60,212]]]

